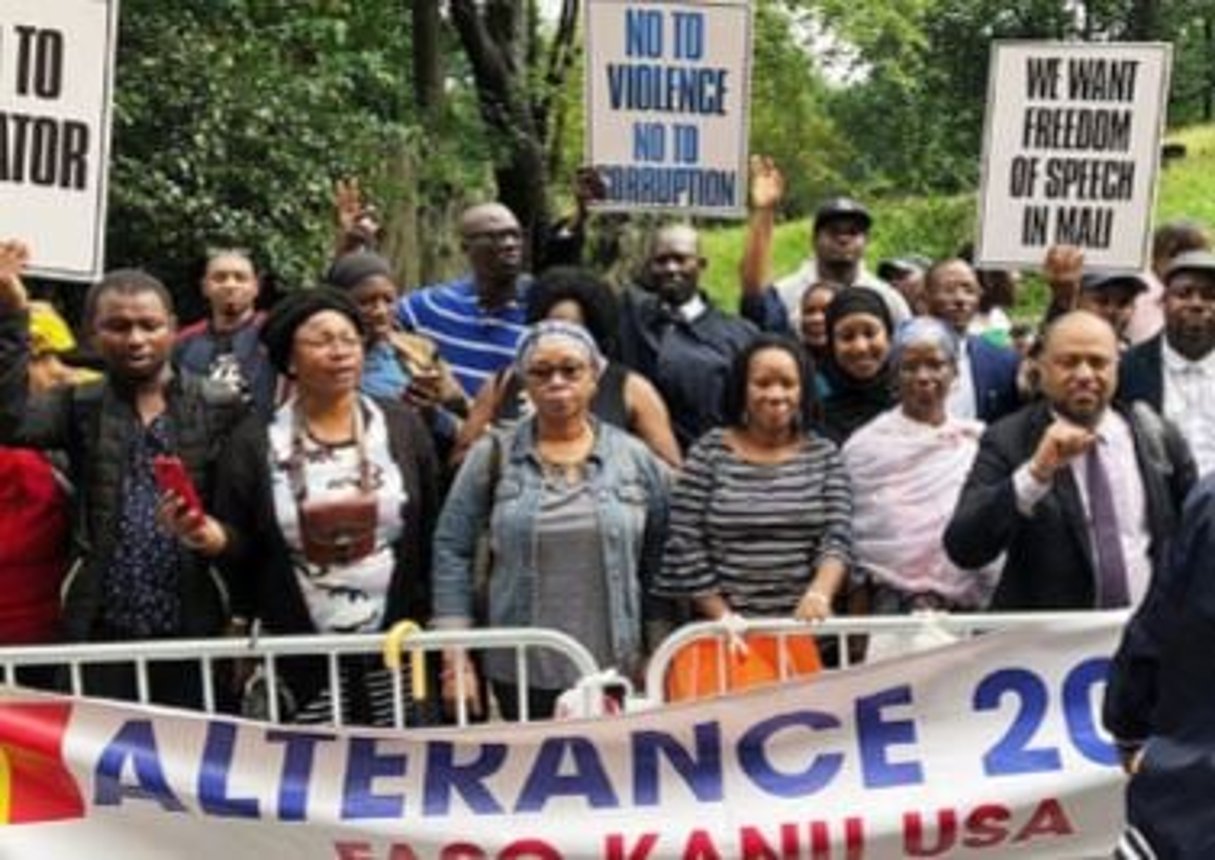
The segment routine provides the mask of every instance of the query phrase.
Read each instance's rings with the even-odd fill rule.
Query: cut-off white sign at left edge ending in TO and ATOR
[[[0,5],[0,236],[32,275],[95,281],[106,259],[106,182],[118,0]]]

